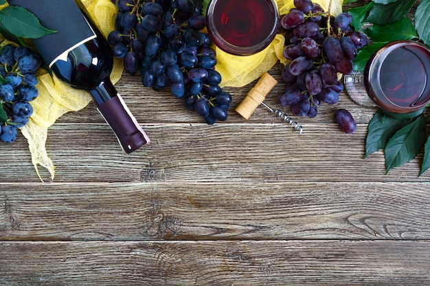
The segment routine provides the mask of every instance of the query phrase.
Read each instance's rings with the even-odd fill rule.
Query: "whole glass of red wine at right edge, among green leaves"
[[[392,113],[409,113],[430,102],[430,50],[415,41],[383,46],[367,62],[364,84],[374,103]]]

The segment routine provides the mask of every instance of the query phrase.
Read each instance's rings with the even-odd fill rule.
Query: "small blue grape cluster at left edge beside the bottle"
[[[43,61],[27,47],[5,45],[0,51],[0,140],[12,143],[16,129],[33,113],[31,101],[38,96],[36,72]]]

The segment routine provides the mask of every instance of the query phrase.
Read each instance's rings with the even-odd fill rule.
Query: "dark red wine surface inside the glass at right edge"
[[[430,58],[421,47],[398,47],[381,65],[381,89],[388,100],[400,107],[411,107],[426,90]]]

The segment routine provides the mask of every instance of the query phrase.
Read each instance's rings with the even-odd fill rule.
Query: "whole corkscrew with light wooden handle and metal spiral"
[[[270,74],[264,73],[260,80],[258,80],[258,83],[255,87],[251,88],[251,90],[248,92],[247,96],[240,102],[240,104],[236,107],[236,112],[242,115],[243,118],[249,119],[253,113],[253,111],[256,110],[256,108],[262,104],[264,107],[269,109],[271,113],[278,115],[279,118],[282,118],[284,122],[287,122],[295,130],[298,130],[300,134],[303,133],[303,127],[300,126],[297,122],[293,120],[288,114],[282,112],[280,109],[273,109],[269,107],[269,105],[265,104],[263,100],[266,98],[267,94],[269,94],[269,91],[275,87],[275,85],[278,84],[278,81],[275,80]]]

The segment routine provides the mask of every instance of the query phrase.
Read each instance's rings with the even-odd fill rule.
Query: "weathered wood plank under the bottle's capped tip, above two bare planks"
[[[418,177],[422,154],[387,175],[382,152],[363,159],[365,124],[352,135],[333,124],[308,125],[302,135],[285,124],[151,124],[144,129],[152,143],[125,155],[108,126],[52,126],[47,151],[56,181],[430,180],[430,172]],[[38,181],[25,144],[0,144],[2,181]]]

